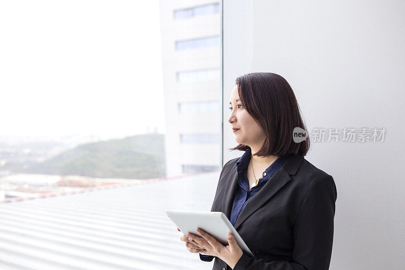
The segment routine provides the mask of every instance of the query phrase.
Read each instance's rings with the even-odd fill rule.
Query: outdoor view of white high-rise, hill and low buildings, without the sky
[[[220,3],[160,1],[159,8],[165,130],[0,135],[0,202],[220,170]]]

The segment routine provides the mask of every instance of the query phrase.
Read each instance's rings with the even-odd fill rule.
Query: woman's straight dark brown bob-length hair
[[[262,148],[253,156],[305,156],[309,150],[309,137],[296,143],[293,130],[300,127],[306,134],[308,131],[293,89],[286,79],[270,72],[255,72],[239,76],[235,84],[242,105],[266,134]],[[239,144],[229,150],[246,151],[249,148]]]

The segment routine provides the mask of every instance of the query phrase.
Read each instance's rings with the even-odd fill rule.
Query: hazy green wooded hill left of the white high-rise
[[[41,163],[9,165],[18,173],[129,179],[163,177],[166,175],[164,135],[144,134],[87,143]]]

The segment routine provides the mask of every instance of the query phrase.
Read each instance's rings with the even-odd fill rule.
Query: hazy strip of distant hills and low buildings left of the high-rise
[[[89,187],[141,183],[145,179],[165,176],[164,135],[157,134],[157,128],[149,129],[149,131],[152,131],[152,133],[120,139],[79,134],[53,138],[45,136],[19,138],[1,136],[0,202],[8,198],[36,198],[45,194],[72,192]],[[159,139],[160,143],[158,142]],[[160,150],[155,147],[148,152],[145,151],[145,147],[139,146],[142,143],[147,144],[147,140],[153,140],[154,145],[161,147]],[[120,166],[119,173],[113,175],[114,171],[117,171],[114,166],[106,166],[108,173],[100,169],[94,170],[94,167],[97,166],[92,166],[91,163],[86,163],[84,160],[84,157],[88,158],[89,154],[84,154],[83,151],[81,153],[77,152],[78,149],[89,146],[97,148],[97,150],[92,151],[91,156],[92,162],[98,164],[103,164],[103,162],[112,163],[112,159],[116,160],[115,155],[123,154],[122,148],[127,148],[133,155],[128,155],[127,152],[125,161],[118,160],[115,166]],[[120,147],[121,150],[119,150]],[[97,152],[100,151],[108,151],[111,156],[98,155]],[[159,153],[159,151],[161,152]],[[156,155],[159,155],[159,158],[154,158]],[[63,156],[67,157],[61,160]],[[149,160],[149,165],[153,168],[148,169],[140,163],[142,168],[138,168],[137,172],[134,172],[139,159]],[[69,169],[63,167],[69,162],[72,163],[72,161],[74,163]],[[48,164],[48,166],[42,166],[44,164]],[[125,164],[127,164],[127,168],[125,168]],[[50,170],[49,167],[53,168],[54,171]],[[83,175],[84,171],[95,174],[86,176]],[[148,174],[148,171],[154,171],[155,173]],[[119,177],[123,175],[126,177]],[[137,179],[137,176],[139,179]]]

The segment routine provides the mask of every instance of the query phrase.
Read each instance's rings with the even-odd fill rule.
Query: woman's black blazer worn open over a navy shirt
[[[222,169],[211,208],[228,219],[238,185],[238,160]],[[332,176],[291,155],[240,212],[235,229],[255,257],[244,253],[233,269],[329,269],[336,198]],[[215,257],[213,270],[218,269],[231,268]]]

